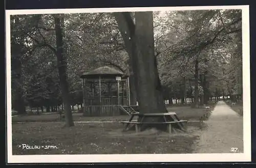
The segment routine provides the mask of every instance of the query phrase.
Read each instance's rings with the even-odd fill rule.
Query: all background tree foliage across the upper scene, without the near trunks
[[[71,104],[81,104],[81,73],[108,65],[129,74],[130,60],[111,14],[64,17]],[[210,96],[242,94],[241,18],[241,10],[154,12],[155,55],[166,99],[194,96],[196,58],[200,95],[205,88]],[[55,50],[52,14],[11,16],[13,104],[20,98],[30,106],[62,103]]]

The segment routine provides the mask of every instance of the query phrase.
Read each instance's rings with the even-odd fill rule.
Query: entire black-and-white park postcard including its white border
[[[250,161],[249,6],[6,11],[8,162]]]

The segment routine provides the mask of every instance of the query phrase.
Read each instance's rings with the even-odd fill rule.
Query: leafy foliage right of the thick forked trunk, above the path
[[[194,88],[195,59],[199,61],[198,73],[206,78],[211,96],[236,93],[232,91],[238,87],[233,84],[241,88],[241,78],[233,82],[234,76],[242,76],[241,10],[168,11],[155,26],[155,34],[161,34],[157,38],[160,77],[163,85],[173,88],[172,95],[182,97],[177,88],[182,85],[183,77],[190,81],[186,82],[187,93]],[[234,59],[233,55],[238,53]],[[234,75],[238,72],[239,75]]]

